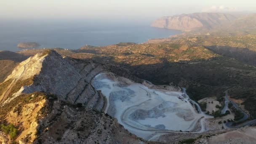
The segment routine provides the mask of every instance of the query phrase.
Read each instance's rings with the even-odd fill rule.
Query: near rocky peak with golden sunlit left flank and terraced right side
[[[144,143],[102,112],[106,99],[91,80],[104,71],[51,50],[21,62],[0,83],[0,142]]]

